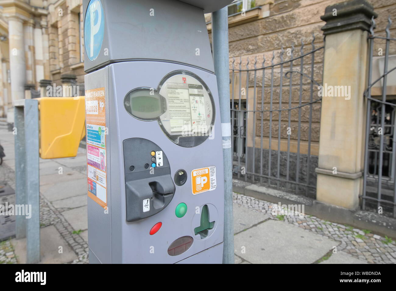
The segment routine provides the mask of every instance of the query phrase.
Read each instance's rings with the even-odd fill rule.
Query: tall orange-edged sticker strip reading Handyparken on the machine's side
[[[85,91],[88,197],[107,207],[105,88]]]

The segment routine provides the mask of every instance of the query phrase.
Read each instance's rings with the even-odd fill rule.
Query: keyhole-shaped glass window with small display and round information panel
[[[215,105],[208,86],[196,74],[184,70],[167,74],[157,89],[131,90],[124,106],[137,119],[157,120],[166,136],[184,147],[206,141],[215,122]]]

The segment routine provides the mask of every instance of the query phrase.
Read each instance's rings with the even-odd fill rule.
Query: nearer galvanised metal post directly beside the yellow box
[[[38,101],[25,99],[26,201],[31,217],[26,219],[26,262],[40,262],[40,174],[38,153]]]

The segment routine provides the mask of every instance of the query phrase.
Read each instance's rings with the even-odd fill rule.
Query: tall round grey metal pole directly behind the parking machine
[[[234,263],[234,219],[232,215],[232,153],[230,123],[230,74],[228,68],[228,7],[212,13],[212,43],[219,90],[224,163],[223,264]]]

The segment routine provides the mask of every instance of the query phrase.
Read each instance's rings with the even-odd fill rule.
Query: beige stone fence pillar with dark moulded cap
[[[377,17],[365,0],[327,6],[316,199],[347,209],[362,194],[367,31]],[[340,87],[342,86],[342,87]],[[320,92],[320,89],[318,89]]]

